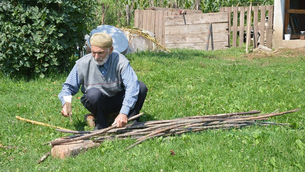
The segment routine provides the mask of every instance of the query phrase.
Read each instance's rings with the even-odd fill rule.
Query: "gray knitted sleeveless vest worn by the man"
[[[102,75],[99,66],[95,63],[92,54],[87,54],[76,61],[77,75],[81,81],[81,103],[85,103],[86,93],[90,88],[98,88],[106,97],[113,97],[124,89],[121,74],[129,61],[124,55],[112,52],[109,55],[108,71]]]

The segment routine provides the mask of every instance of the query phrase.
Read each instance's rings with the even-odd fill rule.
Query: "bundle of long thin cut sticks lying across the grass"
[[[136,139],[137,142],[132,144],[127,149],[134,147],[141,142],[158,136],[170,136],[175,134],[182,134],[186,132],[199,132],[207,129],[229,129],[250,127],[253,125],[288,125],[286,123],[266,122],[269,117],[288,114],[296,112],[300,109],[288,110],[276,113],[276,111],[269,114],[260,114],[260,111],[253,110],[247,112],[235,112],[228,114],[202,115],[190,116],[185,118],[178,118],[172,120],[159,120],[147,122],[135,122],[128,124],[123,128],[116,128],[112,125],[106,129],[95,131],[71,131],[64,129],[56,129],[64,133],[74,133],[76,135],[62,137],[60,140],[51,141],[51,145],[58,145],[63,143],[70,143],[77,140],[91,138],[94,142],[104,142],[106,140],[124,140]],[[143,113],[138,114],[128,119],[132,121],[140,117]]]

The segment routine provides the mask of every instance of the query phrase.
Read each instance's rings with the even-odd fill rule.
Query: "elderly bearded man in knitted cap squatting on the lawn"
[[[95,129],[108,127],[107,116],[120,111],[113,122],[117,127],[127,124],[127,117],[139,114],[147,88],[138,81],[135,71],[124,55],[113,52],[113,41],[106,33],[91,36],[91,54],[76,61],[58,97],[63,104],[61,114],[68,117],[65,95],[75,95],[80,86],[81,103],[94,114]]]

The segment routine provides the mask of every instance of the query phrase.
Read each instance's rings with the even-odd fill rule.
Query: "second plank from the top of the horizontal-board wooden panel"
[[[179,33],[201,33],[208,30],[209,24],[186,24],[177,26],[165,26],[165,34],[179,34]],[[228,23],[213,23],[213,32],[227,31]]]

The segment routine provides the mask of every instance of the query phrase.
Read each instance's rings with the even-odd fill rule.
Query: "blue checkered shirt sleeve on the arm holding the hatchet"
[[[58,94],[58,98],[61,101],[62,105],[65,104],[65,100],[63,99],[63,96],[75,95],[79,91],[80,87],[81,87],[81,81],[78,78],[77,65],[75,64],[69,76],[67,77],[66,82],[63,83],[63,89]]]

